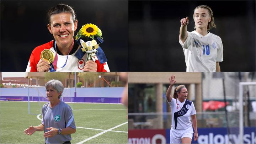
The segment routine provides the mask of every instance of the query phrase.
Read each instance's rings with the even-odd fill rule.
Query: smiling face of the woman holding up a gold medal
[[[65,47],[73,42],[74,31],[77,28],[78,21],[73,21],[73,17],[68,12],[50,16],[50,25],[48,30],[53,34],[59,47]]]

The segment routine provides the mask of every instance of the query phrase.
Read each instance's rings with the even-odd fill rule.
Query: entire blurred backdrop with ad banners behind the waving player
[[[171,75],[176,85],[186,85],[196,107],[199,137],[192,143],[255,143],[256,87],[250,72],[129,73],[128,143],[170,143],[171,109],[165,94]]]

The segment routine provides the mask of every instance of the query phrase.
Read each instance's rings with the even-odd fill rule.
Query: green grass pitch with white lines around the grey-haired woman
[[[40,104],[41,108],[44,103],[46,102]],[[127,122],[127,110],[123,105],[94,103],[68,104],[74,110],[73,114],[76,127],[107,130]],[[30,105],[32,113],[40,113],[38,102],[31,102]],[[29,126],[38,126],[41,124],[41,121],[37,119],[37,115],[28,114],[28,102],[1,101],[0,108],[0,143],[44,143],[43,131],[35,132],[32,135],[25,135],[23,133]],[[76,133],[71,134],[71,143],[79,143],[103,132],[102,130],[84,128],[76,128]],[[127,132],[128,123],[99,135],[96,138],[92,138],[85,143],[128,143]]]

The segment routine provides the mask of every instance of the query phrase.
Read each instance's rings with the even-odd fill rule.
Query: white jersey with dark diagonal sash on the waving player
[[[171,111],[172,111],[172,128],[175,128],[174,113],[177,111],[180,111],[182,109],[183,105],[185,104],[185,101],[183,101],[181,103],[177,99],[177,103],[176,103],[176,99],[172,97],[171,102],[168,102],[168,103],[169,103],[169,105],[171,107]],[[177,127],[176,127],[177,130],[188,129],[188,128],[191,128],[191,126],[192,126],[192,123],[190,121],[190,116],[196,114],[196,109],[194,107],[193,102],[191,103],[190,106],[186,106],[186,107],[188,108],[187,113],[184,114],[183,116],[180,116],[177,118]]]

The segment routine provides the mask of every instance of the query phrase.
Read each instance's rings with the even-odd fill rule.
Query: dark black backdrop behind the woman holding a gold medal
[[[110,71],[128,71],[127,1],[6,0],[0,3],[1,71],[25,71],[32,50],[53,40],[47,29],[47,11],[57,4],[74,8],[78,18],[77,32],[86,23],[100,27],[104,39],[101,48]]]

